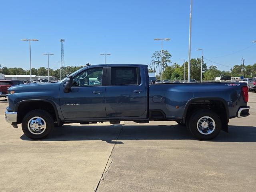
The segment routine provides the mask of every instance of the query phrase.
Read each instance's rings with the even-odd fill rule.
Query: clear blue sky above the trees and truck
[[[256,63],[255,0],[193,0],[192,58],[204,57],[227,66]],[[172,54],[172,64],[188,60],[190,0],[72,0],[2,1],[0,6],[0,64],[29,69],[32,42],[32,67],[58,68],[60,38],[64,38],[65,65],[107,63],[147,64],[160,50],[154,38],[170,38],[164,49]],[[256,44],[255,44],[256,45]],[[237,52],[236,54],[223,56]],[[211,63],[207,60],[209,65]],[[218,66],[220,70],[229,67]]]

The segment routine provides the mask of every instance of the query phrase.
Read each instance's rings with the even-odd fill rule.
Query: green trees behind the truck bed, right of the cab
[[[177,63],[171,64],[171,54],[167,50],[162,51],[162,79],[169,80],[183,80],[184,78],[184,65],[185,65],[185,80],[188,79],[188,61],[182,65]],[[201,76],[201,58],[192,58],[190,61],[190,79],[200,81]],[[160,78],[160,66],[161,66],[161,51],[156,51],[152,55],[152,61],[148,64],[148,72],[156,72],[157,78]],[[230,70],[221,71],[215,65],[207,66],[203,60],[202,64],[202,79],[203,80],[215,80],[215,77],[220,76],[232,76],[245,78],[256,77],[256,63],[253,65],[243,66],[235,65]]]

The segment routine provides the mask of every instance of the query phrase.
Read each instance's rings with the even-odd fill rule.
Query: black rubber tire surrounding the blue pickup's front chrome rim
[[[28,128],[28,122],[33,117],[39,117],[39,118],[43,119],[46,124],[46,127],[44,129],[42,129],[43,131],[41,134],[40,134],[40,131],[37,132],[39,134],[33,134],[32,133],[33,131]],[[36,118],[34,118],[34,121],[37,121]],[[40,125],[40,122],[38,124]],[[53,128],[54,128],[54,120],[53,120],[52,116],[50,115],[50,113],[45,110],[32,110],[32,111],[28,112],[22,120],[22,131],[24,132],[24,134],[27,137],[29,137],[31,139],[44,139],[50,134],[50,132],[52,131]]]

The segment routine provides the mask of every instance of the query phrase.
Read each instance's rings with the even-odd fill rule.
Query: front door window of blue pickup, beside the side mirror
[[[102,67],[85,70],[73,77],[73,86],[101,86]]]

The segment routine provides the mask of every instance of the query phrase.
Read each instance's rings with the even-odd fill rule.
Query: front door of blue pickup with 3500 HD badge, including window
[[[106,68],[88,68],[73,77],[71,91],[60,88],[60,108],[68,118],[106,118]]]

